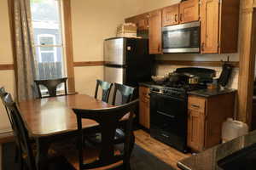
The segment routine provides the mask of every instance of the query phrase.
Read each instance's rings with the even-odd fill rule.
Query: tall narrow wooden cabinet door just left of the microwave
[[[149,14],[149,54],[161,54],[162,51],[162,15],[161,10]]]

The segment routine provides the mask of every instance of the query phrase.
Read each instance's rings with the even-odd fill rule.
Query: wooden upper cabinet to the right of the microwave
[[[236,53],[239,0],[201,0],[201,54]]]

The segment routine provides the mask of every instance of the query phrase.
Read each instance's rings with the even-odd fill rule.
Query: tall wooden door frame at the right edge
[[[240,69],[237,115],[251,127],[256,47],[256,0],[241,0]]]

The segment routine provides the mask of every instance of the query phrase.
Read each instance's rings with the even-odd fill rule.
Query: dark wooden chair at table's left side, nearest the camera
[[[3,104],[9,111],[9,115],[13,122],[13,131],[15,133],[15,138],[20,144],[21,153],[21,164],[20,169],[36,170],[35,154],[36,150],[32,150],[32,143],[29,139],[28,131],[26,129],[25,123],[23,122],[17,105],[13,101],[10,94],[6,94],[3,97]],[[66,169],[74,170],[74,167],[68,163],[68,161],[63,156],[51,156],[49,159],[49,169]]]

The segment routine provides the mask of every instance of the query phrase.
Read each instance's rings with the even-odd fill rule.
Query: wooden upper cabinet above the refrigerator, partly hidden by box
[[[125,19],[125,23],[134,23],[138,31],[148,30],[148,14],[139,14],[137,16]]]

